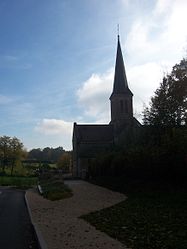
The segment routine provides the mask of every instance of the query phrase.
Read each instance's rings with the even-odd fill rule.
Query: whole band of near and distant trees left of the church
[[[71,152],[65,151],[63,147],[27,151],[17,137],[0,136],[0,175],[30,174],[29,171],[36,167],[47,169],[51,164],[69,171]]]

